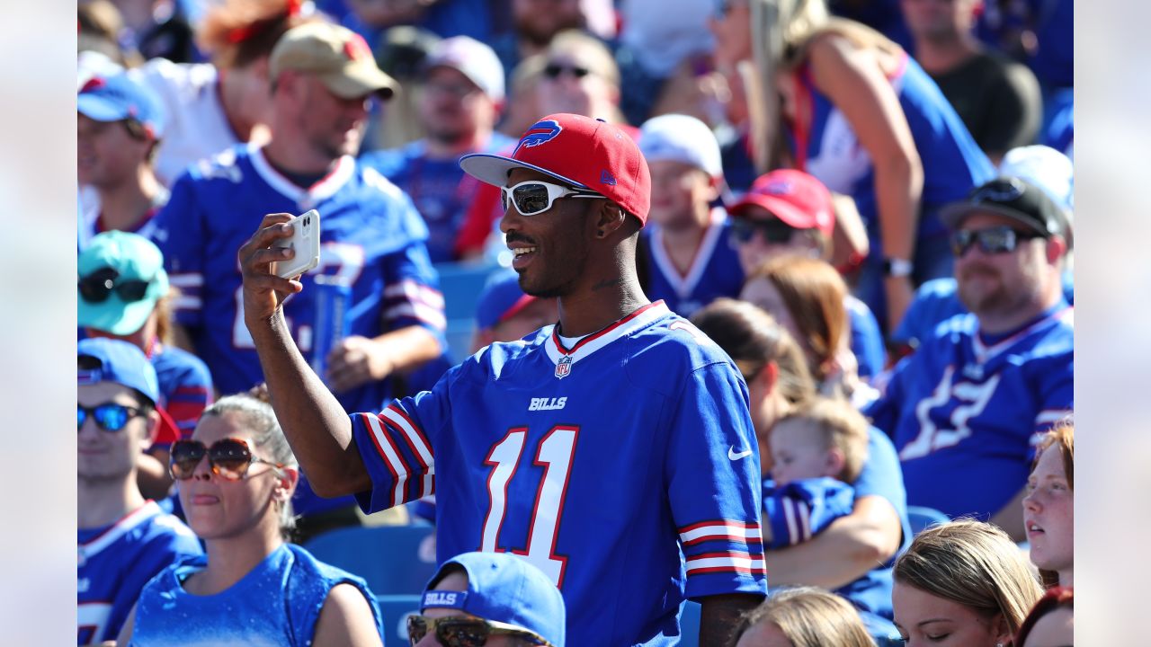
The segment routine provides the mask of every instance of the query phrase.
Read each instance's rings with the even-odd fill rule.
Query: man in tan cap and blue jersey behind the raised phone
[[[444,327],[427,227],[399,189],[352,157],[368,100],[389,97],[395,83],[359,36],[327,23],[289,30],[268,66],[272,140],[192,167],[157,216],[157,244],[183,294],[176,320],[220,393],[261,382],[243,324],[236,250],[269,211],[315,208],[320,264],[302,280],[311,287],[325,276],[350,286],[341,309],[343,338],[333,338],[338,332],[320,338],[322,328],[333,328],[321,319],[333,312],[322,307],[318,289],[288,304],[287,326],[310,363],[326,360],[325,381],[348,411],[378,408],[389,396],[386,378],[440,353]]]

